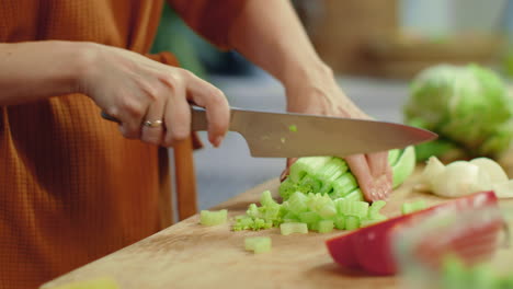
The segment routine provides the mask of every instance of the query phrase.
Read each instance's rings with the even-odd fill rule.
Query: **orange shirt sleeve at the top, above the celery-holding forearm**
[[[247,0],[168,0],[183,21],[221,49],[230,49],[228,32]]]

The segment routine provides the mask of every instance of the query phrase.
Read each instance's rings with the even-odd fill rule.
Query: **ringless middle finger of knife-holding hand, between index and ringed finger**
[[[191,135],[191,106],[185,99],[185,86],[170,88],[170,96],[166,103],[164,112],[166,136],[163,143],[170,147]]]

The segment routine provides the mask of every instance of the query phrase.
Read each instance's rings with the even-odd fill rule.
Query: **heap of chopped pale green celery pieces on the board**
[[[261,230],[290,223],[281,227],[283,234],[303,231],[301,224],[322,233],[330,232],[333,228],[354,230],[386,219],[379,213],[385,206],[383,200],[369,205],[362,200],[332,199],[327,194],[296,192],[287,200],[278,204],[271,196],[271,192],[265,190],[260,204],[260,207],[251,204],[244,216],[237,217],[232,230]]]

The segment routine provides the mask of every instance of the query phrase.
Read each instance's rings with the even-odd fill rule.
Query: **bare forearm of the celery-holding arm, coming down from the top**
[[[229,41],[235,49],[285,85],[331,77],[331,69],[315,51],[287,0],[248,0],[232,25]]]

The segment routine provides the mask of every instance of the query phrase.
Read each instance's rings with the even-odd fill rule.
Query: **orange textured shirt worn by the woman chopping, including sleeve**
[[[243,2],[169,1],[224,48]],[[162,5],[0,0],[0,42],[87,41],[147,54]],[[176,65],[169,53],[152,58]],[[86,95],[0,106],[0,288],[36,288],[168,227],[171,204],[159,201],[171,193],[167,165],[166,149],[123,138]]]

